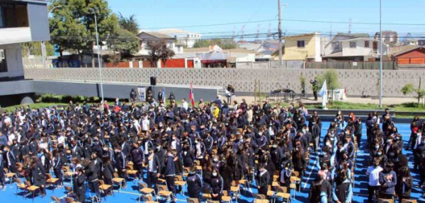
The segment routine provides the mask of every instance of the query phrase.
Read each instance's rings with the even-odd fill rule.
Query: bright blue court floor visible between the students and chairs
[[[404,144],[407,144],[410,136],[409,124],[396,124],[399,129],[399,133],[402,134]],[[329,122],[323,123],[322,135],[326,134],[327,127],[329,127]],[[355,185],[353,188],[353,202],[367,202],[368,200],[368,177],[365,175],[366,169],[368,167],[368,157],[369,154],[365,149],[365,127],[363,127],[363,137],[361,139],[362,144],[360,150],[357,153],[357,162],[355,170]],[[404,154],[409,158],[409,166],[413,168],[413,155],[412,151],[403,151]],[[312,153],[310,155],[310,163],[308,169],[306,170],[305,177],[302,178],[301,192],[297,192],[296,199],[292,199],[292,202],[310,202],[308,199],[308,192],[310,189],[310,182],[315,178],[318,170],[318,154]],[[412,199],[417,199],[418,202],[425,202],[423,196],[421,196],[422,191],[418,187],[419,174],[416,171],[412,171],[412,176],[414,177],[414,188],[412,189]],[[253,182],[255,184],[255,182]],[[69,180],[64,183],[65,186],[71,186]],[[242,190],[242,189],[241,189]],[[256,193],[255,185],[251,185],[251,188],[248,191],[241,191],[241,196],[238,199],[238,202],[253,202],[252,193]],[[118,192],[118,188],[115,188],[115,195],[106,197],[106,202],[137,202],[140,193],[137,191],[137,182],[128,181],[128,187],[124,190]],[[44,198],[36,196],[35,199],[31,199],[31,196],[28,195],[27,199],[24,199],[23,192],[18,190],[16,194],[16,185],[7,184],[7,189],[5,191],[0,191],[0,202],[52,202],[50,196],[56,197],[65,197],[64,189],[56,189],[53,193],[52,188],[47,188],[47,195]],[[87,194],[89,197],[89,194]],[[105,199],[102,199],[102,202],[105,202]],[[186,196],[181,194],[177,195],[177,202],[187,202]]]

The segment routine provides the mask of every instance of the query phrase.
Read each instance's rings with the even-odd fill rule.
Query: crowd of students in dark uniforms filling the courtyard
[[[113,105],[70,102],[61,108],[1,112],[1,187],[6,188],[8,170],[39,186],[44,196],[47,173],[62,181],[62,168],[69,166],[77,202],[86,201],[86,190],[100,196],[98,180],[112,185],[114,173],[146,182],[154,190],[159,178],[164,179],[175,200],[174,194],[182,190],[175,177],[185,171],[191,198],[206,191],[220,201],[224,194],[232,195],[231,187],[242,180],[255,182],[258,193],[268,197],[272,182],[290,188],[294,175],[302,178],[309,154],[317,153],[319,171],[312,176],[317,178],[310,184],[310,202],[351,202],[356,151],[363,135],[370,152],[369,202],[410,198],[413,178],[388,111],[382,116],[370,113],[364,120],[367,133],[362,134],[362,120],[353,113],[339,111],[325,127],[317,112],[309,114],[302,103],[281,107],[268,100],[261,104],[242,100],[229,105],[217,97],[191,107],[186,100],[176,105],[174,95],[169,105],[152,96],[136,105],[135,95],[131,98],[129,103],[117,99]],[[424,127],[416,117],[406,146],[414,151],[421,184]],[[322,128],[327,128],[323,139]],[[134,177],[127,173],[130,166],[137,170]]]

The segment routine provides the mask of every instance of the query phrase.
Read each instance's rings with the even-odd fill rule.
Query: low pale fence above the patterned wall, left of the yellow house
[[[302,69],[304,67],[304,61],[300,60],[291,60],[291,61],[282,61],[281,69]],[[237,62],[237,69],[278,69],[278,61],[270,62]]]

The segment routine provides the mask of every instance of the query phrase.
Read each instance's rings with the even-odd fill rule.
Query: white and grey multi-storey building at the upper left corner
[[[0,1],[0,81],[23,79],[21,43],[50,40],[47,1]]]

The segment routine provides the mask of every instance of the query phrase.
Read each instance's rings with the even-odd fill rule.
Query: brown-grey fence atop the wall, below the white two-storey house
[[[306,69],[361,69],[378,70],[380,62],[306,62]],[[397,70],[395,62],[382,62],[382,69]]]

